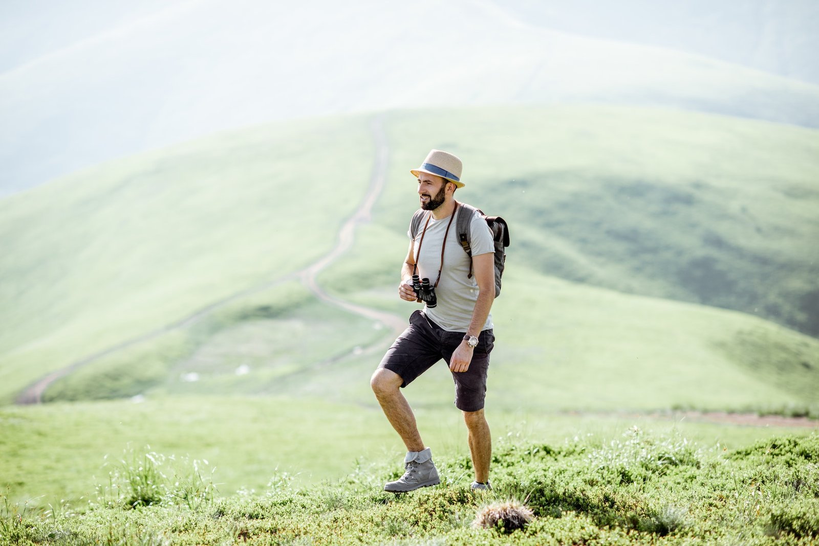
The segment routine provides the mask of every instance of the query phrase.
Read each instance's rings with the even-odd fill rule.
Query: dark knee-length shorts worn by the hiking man
[[[401,387],[406,387],[438,360],[445,360],[449,366],[452,353],[463,340],[464,332],[447,332],[423,312],[415,311],[409,317],[409,326],[398,336],[378,367],[400,375],[404,380]],[[483,330],[477,337],[469,368],[465,372],[451,372],[455,381],[455,406],[459,410],[483,409],[489,353],[494,346],[495,334],[491,329]]]

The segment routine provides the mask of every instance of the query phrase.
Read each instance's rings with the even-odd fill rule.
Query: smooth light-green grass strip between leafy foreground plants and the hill
[[[359,378],[365,385],[368,380],[369,374]],[[433,453],[468,455],[466,429],[454,406],[419,405],[416,416]],[[658,433],[677,429],[692,441],[733,449],[774,434],[811,432],[689,423],[673,415],[577,416],[491,406],[487,416],[495,443],[602,438],[638,425]],[[206,470],[216,469],[214,482],[225,496],[241,489],[265,490],[285,472],[296,484],[310,486],[342,480],[355,472],[356,461],[400,466],[405,450],[372,392],[349,402],[314,396],[190,395],[11,406],[0,410],[0,426],[0,488],[9,487],[7,494],[15,502],[34,499],[32,504],[41,507],[61,499],[84,505],[94,487],[106,481],[111,461],[122,458],[124,450],[145,446],[168,456],[206,459]]]

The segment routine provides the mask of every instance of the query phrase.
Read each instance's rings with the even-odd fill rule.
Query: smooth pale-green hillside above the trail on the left
[[[368,185],[367,123],[219,134],[0,200],[0,400],[327,253]]]

